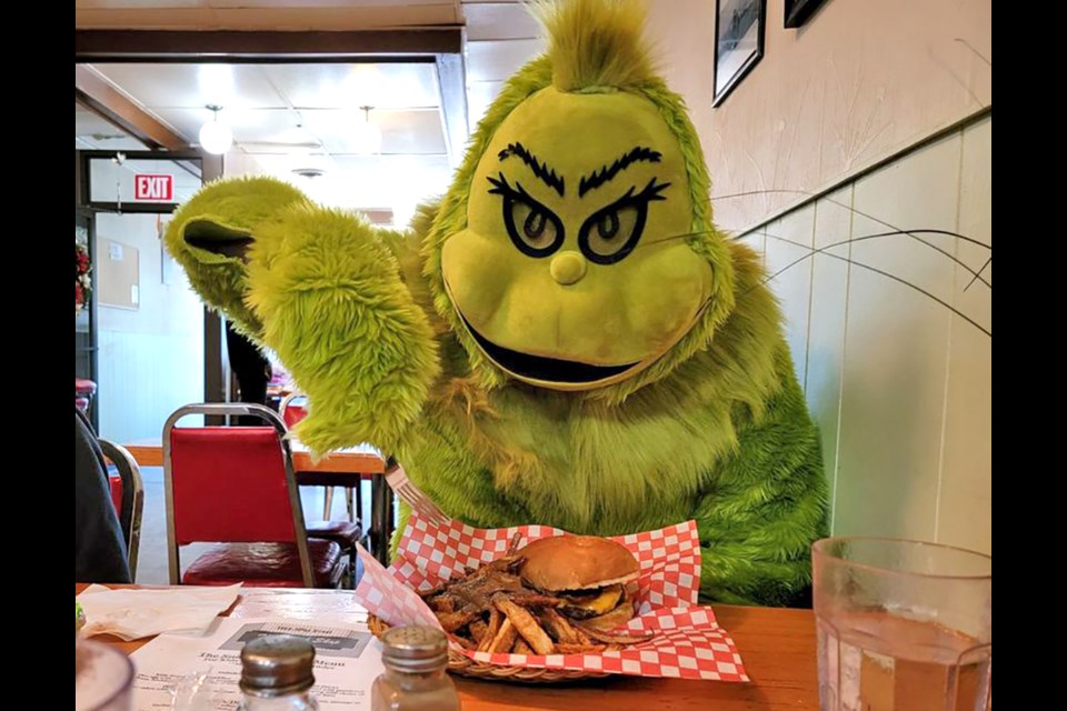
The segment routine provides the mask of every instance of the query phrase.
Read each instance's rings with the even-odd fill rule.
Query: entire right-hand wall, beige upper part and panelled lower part
[[[767,0],[762,60],[712,109],[715,3],[651,0],[716,223],[770,273],[802,260],[770,283],[821,427],[835,533],[989,551],[991,337],[935,298],[991,332],[991,268],[989,286],[968,288],[967,271],[991,257],[991,114],[850,177],[991,106],[991,2],[825,0],[799,30],[785,29],[784,2]],[[890,229],[878,220],[980,244],[921,236],[965,268],[907,236],[848,243]]]

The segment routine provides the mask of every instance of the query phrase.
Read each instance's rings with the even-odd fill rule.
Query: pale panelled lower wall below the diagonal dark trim
[[[824,250],[771,288],[835,533],[990,550],[991,267],[970,282],[991,257],[991,132],[986,117],[741,238],[764,244],[769,273]],[[895,229],[977,243],[870,237]]]

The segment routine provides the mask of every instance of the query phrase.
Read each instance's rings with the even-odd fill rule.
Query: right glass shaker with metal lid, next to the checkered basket
[[[397,627],[381,638],[383,674],[371,690],[372,711],[459,711],[446,673],[448,640],[431,627]]]

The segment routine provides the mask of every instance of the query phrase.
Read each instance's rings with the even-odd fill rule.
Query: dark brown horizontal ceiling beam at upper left
[[[459,54],[462,29],[352,32],[76,30],[77,62],[432,61]]]

